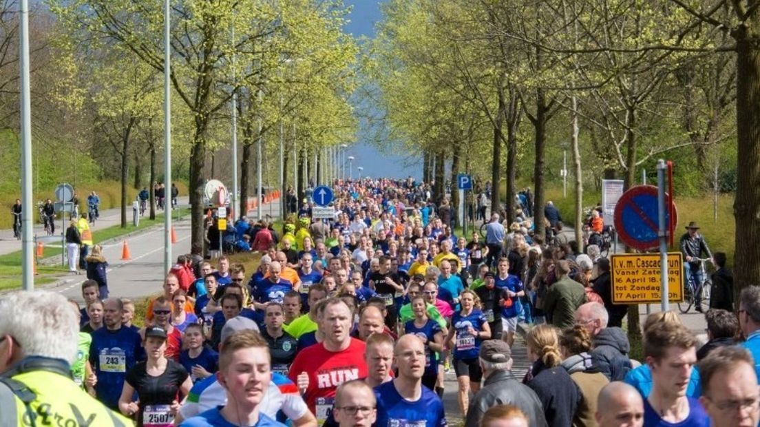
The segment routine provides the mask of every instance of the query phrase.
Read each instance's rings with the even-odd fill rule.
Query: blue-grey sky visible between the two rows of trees
[[[355,37],[374,37],[375,23],[382,19],[380,5],[385,0],[345,0],[346,5],[352,6],[353,9],[349,16],[350,22],[344,27],[347,33]],[[406,178],[413,176],[416,179],[422,179],[422,158],[412,163],[407,156],[398,156],[393,153],[386,153],[378,150],[369,142],[375,131],[369,129],[366,122],[359,122],[359,131],[356,133],[356,142],[350,144],[347,148],[346,157],[353,156],[353,176],[357,177],[359,172],[357,166],[362,166],[363,176],[388,177],[388,178]],[[348,162],[347,162],[348,163]],[[349,174],[348,167],[346,165]]]

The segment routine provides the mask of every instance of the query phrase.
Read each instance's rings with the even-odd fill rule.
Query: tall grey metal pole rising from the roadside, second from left
[[[163,175],[168,203],[163,204],[163,271],[172,267],[172,98],[169,93],[171,73],[171,45],[169,44],[169,21],[171,8],[169,0],[163,0]],[[195,191],[191,188],[190,191]]]

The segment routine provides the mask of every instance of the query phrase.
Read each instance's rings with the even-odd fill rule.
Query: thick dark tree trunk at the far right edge
[[[760,277],[760,49],[756,47],[760,15],[740,25],[736,39],[736,256],[734,292],[758,284]],[[750,27],[751,25],[751,27]],[[739,299],[736,298],[736,301]]]

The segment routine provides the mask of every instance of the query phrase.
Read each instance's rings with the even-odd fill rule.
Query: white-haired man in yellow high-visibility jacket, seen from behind
[[[79,321],[61,294],[9,293],[0,313],[0,425],[131,425],[71,379]]]

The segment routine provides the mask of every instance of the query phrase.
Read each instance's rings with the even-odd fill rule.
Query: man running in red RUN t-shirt
[[[325,340],[302,350],[290,365],[290,379],[298,384],[319,425],[331,413],[337,386],[367,376],[365,344],[350,337],[352,323],[348,305],[329,299],[319,324]]]

